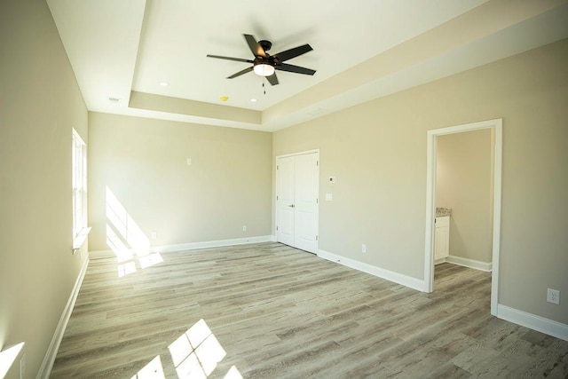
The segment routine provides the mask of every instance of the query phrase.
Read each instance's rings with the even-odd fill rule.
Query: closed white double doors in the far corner
[[[277,161],[277,231],[279,242],[318,252],[319,154],[299,154]]]

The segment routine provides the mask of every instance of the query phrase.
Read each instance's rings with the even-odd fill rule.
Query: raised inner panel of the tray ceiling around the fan
[[[227,96],[227,106],[263,110],[483,3],[148,0],[133,90],[217,104]],[[226,79],[249,64],[206,55],[253,59],[243,34],[270,40],[272,54],[310,43],[287,63],[317,73],[278,71],[277,86],[252,72]]]

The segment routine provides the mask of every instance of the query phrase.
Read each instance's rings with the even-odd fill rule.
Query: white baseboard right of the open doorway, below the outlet
[[[568,325],[561,322],[545,319],[533,313],[519,311],[502,304],[497,304],[497,317],[522,327],[534,329],[548,336],[568,341]]]

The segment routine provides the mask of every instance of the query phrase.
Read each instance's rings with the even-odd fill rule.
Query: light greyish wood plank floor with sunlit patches
[[[279,243],[161,258],[91,261],[51,377],[567,377],[568,342],[489,314],[486,272],[424,294]]]

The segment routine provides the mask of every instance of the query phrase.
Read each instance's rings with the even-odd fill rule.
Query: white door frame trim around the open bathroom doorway
[[[446,128],[428,130],[427,170],[426,170],[426,243],[424,251],[424,289],[434,289],[434,217],[436,215],[436,164],[437,137],[446,134],[461,133],[471,130],[493,129],[493,257],[491,277],[491,314],[497,316],[499,304],[499,256],[501,246],[501,167],[502,167],[502,125],[503,119],[472,122]]]

